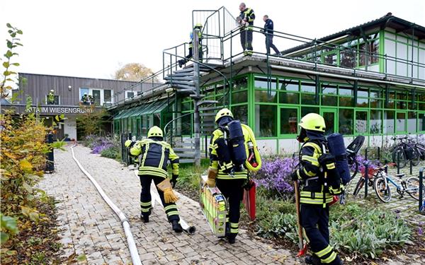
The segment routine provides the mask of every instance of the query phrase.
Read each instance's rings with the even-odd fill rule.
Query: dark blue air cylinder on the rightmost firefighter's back
[[[346,148],[344,146],[344,137],[341,134],[330,134],[327,136],[329,153],[334,155],[336,160],[336,169],[341,177],[342,184],[346,185],[350,182],[351,174],[348,167]]]

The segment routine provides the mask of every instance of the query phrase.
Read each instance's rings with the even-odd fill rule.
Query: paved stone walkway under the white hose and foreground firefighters
[[[198,202],[181,194],[177,202],[181,216],[189,225],[196,225],[195,235],[173,232],[159,207],[154,208],[150,223],[142,223],[140,182],[134,173],[115,160],[89,153],[89,148],[77,146],[74,151],[83,167],[130,219],[143,264],[299,264],[294,252],[276,249],[244,230],[234,245],[218,240],[210,232]],[[131,264],[120,220],[74,163],[69,147],[67,151],[55,151],[55,167],[56,172],[45,175],[40,188],[60,201],[57,207],[63,256],[85,254],[86,261],[80,264]]]

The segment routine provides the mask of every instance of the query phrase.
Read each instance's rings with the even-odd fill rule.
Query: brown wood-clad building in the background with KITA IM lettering
[[[96,111],[113,105],[117,100],[130,100],[137,90],[152,86],[135,84],[110,79],[19,73],[18,89],[13,90],[17,100],[12,105],[2,107],[13,107],[17,113],[38,112],[48,125],[52,124],[56,115],[64,114],[66,119],[58,125],[57,138],[77,139],[76,118],[88,111],[91,105],[95,106]],[[26,110],[28,100],[32,105]]]

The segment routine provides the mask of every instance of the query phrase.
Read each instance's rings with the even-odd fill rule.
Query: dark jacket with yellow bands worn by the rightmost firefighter
[[[332,163],[333,165],[319,163],[323,146],[327,148],[323,145],[326,143],[323,134],[307,131],[307,137],[308,140],[300,150],[300,167],[297,169],[298,179],[304,184],[300,192],[300,203],[328,204],[333,196],[329,192],[324,192],[324,168],[335,168],[335,163]]]

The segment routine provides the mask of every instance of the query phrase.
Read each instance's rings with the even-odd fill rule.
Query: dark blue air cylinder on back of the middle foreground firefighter
[[[227,127],[229,128],[229,146],[231,146],[232,161],[234,165],[244,165],[246,150],[241,122],[234,120],[229,122]]]

